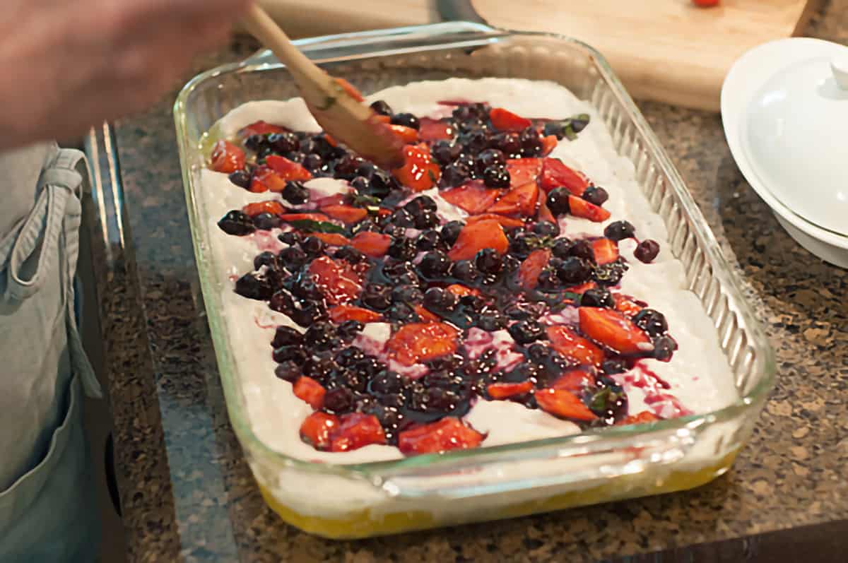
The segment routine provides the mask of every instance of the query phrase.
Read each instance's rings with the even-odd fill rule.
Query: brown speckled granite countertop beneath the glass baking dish
[[[806,34],[848,41],[848,0],[826,3]],[[248,53],[249,46],[234,45],[198,68]],[[175,96],[117,125],[127,254],[124,269],[101,288],[132,561],[579,561],[668,549],[669,557],[776,549],[792,560],[785,559],[791,545],[779,538],[795,538],[791,544],[848,535],[840,522],[848,517],[845,271],[808,254],[778,226],[734,165],[716,114],[658,103],[640,106],[777,354],[777,387],[733,471],[684,493],[388,538],[330,541],[283,524],[260,499],[229,425],[195,299]],[[673,550],[789,528],[802,532]]]

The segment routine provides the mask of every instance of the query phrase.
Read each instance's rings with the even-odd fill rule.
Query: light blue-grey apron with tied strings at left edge
[[[0,562],[87,563],[100,524],[81,406],[100,389],[73,287],[87,171],[79,151],[44,153],[35,205],[0,232]]]

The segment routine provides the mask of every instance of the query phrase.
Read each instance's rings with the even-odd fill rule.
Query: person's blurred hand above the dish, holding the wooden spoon
[[[145,109],[250,0],[3,0],[0,149]]]

